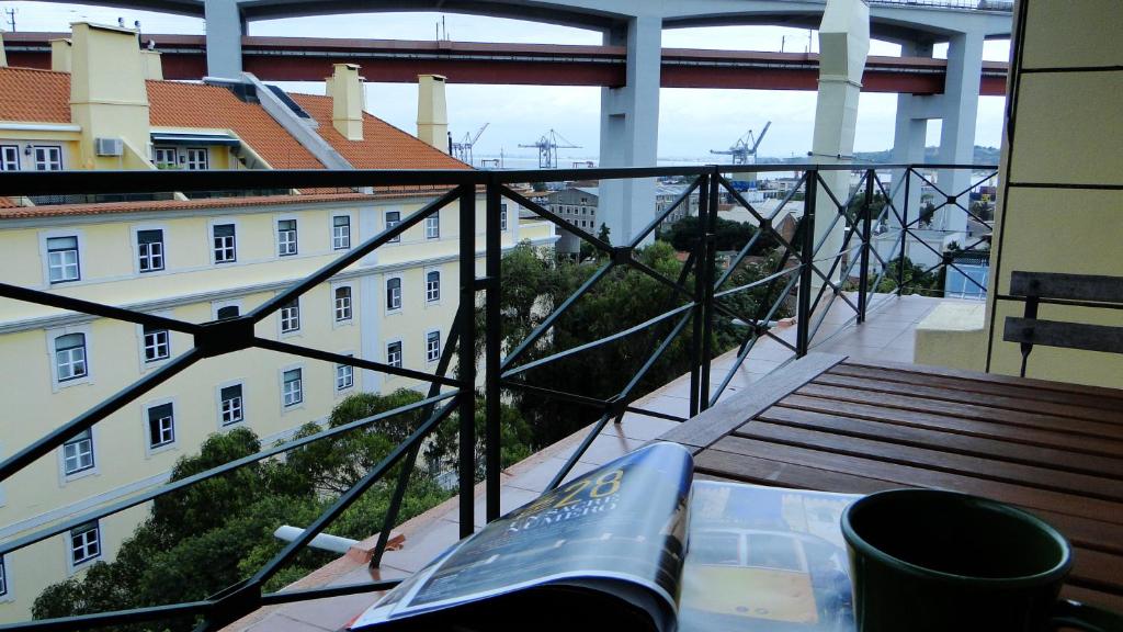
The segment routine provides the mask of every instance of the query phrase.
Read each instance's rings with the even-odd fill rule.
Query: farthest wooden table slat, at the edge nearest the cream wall
[[[1022,397],[1028,400],[1034,400],[1034,401],[1074,404],[1077,406],[1087,406],[1093,408],[1102,408],[1106,410],[1116,410],[1116,412],[1120,410],[1120,406],[1121,404],[1123,404],[1123,401],[1120,401],[1119,399],[1112,399],[1105,397],[1089,397],[1088,395],[1083,392],[1034,388],[1032,386],[1025,386],[1025,385],[992,382],[992,381],[971,379],[966,377],[948,377],[937,373],[916,373],[916,372],[906,373],[894,369],[851,364],[849,362],[843,362],[841,364],[836,365],[829,371],[829,373],[837,376],[849,376],[853,378],[869,378],[869,379],[882,380],[886,382],[896,382],[902,385],[923,383],[925,386],[946,388],[952,391],[969,391],[969,392],[978,392],[986,395],[999,395],[1005,397]]]

